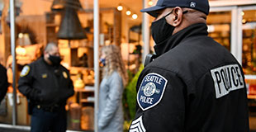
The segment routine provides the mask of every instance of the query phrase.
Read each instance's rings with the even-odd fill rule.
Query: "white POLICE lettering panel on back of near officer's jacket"
[[[231,91],[244,87],[244,79],[238,64],[211,69],[211,77],[215,85],[216,98],[223,97]]]

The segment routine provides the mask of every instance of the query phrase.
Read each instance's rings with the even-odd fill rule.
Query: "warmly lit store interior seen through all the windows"
[[[58,1],[58,2],[57,2]],[[0,64],[7,68],[8,82],[19,77],[22,67],[38,59],[45,45],[59,45],[61,64],[68,68],[75,89],[66,109],[69,111],[69,130],[94,129],[94,66],[93,66],[93,1],[91,0],[16,0],[16,53],[17,73],[12,73],[10,45],[9,0],[0,1]],[[215,0],[216,1],[216,0]],[[156,0],[149,0],[147,6]],[[255,5],[253,5],[255,6]],[[63,10],[63,8],[66,10]],[[100,0],[99,1],[99,47],[118,45],[130,71],[135,77],[142,64],[142,13],[143,1]],[[129,12],[130,11],[130,12]],[[256,10],[244,10],[242,16],[242,61],[244,73],[256,76]],[[209,36],[231,51],[232,12],[211,12],[207,18]],[[149,17],[149,21],[153,21]],[[150,23],[149,22],[149,23]],[[67,33],[69,32],[69,33]],[[154,41],[149,40],[149,52],[154,52]],[[249,105],[256,106],[256,79],[247,79]],[[2,101],[0,123],[12,124],[12,85],[7,99]],[[30,125],[26,97],[17,91],[17,125]],[[124,103],[129,113],[129,102]],[[125,115],[130,121],[130,114]],[[255,114],[256,120],[256,114]],[[251,128],[256,124],[251,121]],[[254,125],[255,124],[255,125]],[[126,129],[126,125],[124,128]]]

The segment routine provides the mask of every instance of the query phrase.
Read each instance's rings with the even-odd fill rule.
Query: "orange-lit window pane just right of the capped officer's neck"
[[[230,50],[231,12],[210,12],[207,25],[209,36]]]

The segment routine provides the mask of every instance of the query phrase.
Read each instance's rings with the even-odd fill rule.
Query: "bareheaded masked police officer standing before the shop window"
[[[66,130],[65,104],[73,95],[73,82],[60,61],[58,46],[50,43],[43,57],[21,71],[18,89],[29,101],[31,132]]]

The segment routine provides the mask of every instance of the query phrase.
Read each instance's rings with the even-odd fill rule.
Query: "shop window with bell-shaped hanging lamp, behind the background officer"
[[[8,82],[12,84],[13,76],[19,78],[26,64],[40,59],[46,44],[55,42],[75,91],[65,106],[68,130],[93,130],[93,1],[15,0],[17,73],[12,73],[8,2],[1,2],[0,14],[0,63],[7,67]],[[1,105],[5,112],[0,114],[0,122],[4,124],[12,124],[12,89],[10,85],[6,103]],[[17,125],[31,125],[28,106],[26,97],[17,91]]]

